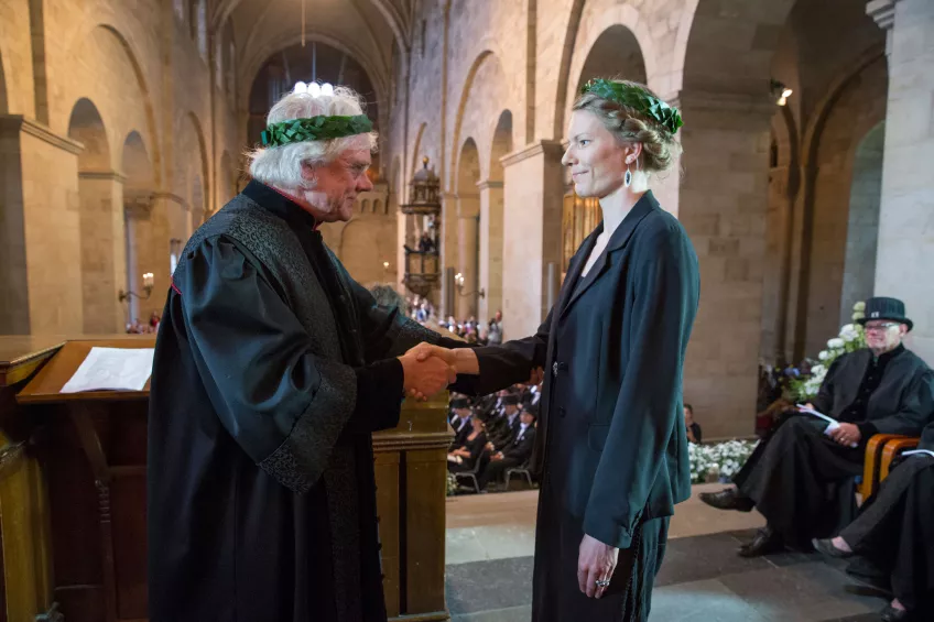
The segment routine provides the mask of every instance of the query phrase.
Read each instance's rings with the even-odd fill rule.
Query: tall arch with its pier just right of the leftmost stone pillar
[[[127,271],[123,177],[112,168],[104,119],[90,99],[79,99],[72,109],[68,138],[84,145],[78,155],[83,330],[108,334],[122,325],[118,292]]]

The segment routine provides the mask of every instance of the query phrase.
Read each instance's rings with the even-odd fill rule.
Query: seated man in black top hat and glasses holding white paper
[[[808,547],[849,524],[856,514],[855,478],[862,473],[866,441],[877,433],[917,435],[934,413],[934,372],[902,346],[912,321],[894,298],[870,298],[868,348],[839,357],[810,404],[838,427],[797,414],[764,439],[734,477],[735,489],[702,493],[720,510],[768,520],[739,554],[754,557],[783,544]],[[826,434],[825,434],[826,433]]]

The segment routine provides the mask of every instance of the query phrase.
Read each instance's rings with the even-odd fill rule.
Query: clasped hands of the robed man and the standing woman
[[[423,342],[399,357],[399,362],[405,394],[423,402],[454,384],[458,373],[480,373],[477,354],[469,348],[448,350]]]

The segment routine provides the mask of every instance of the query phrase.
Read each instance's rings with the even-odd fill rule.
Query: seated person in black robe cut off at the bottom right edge
[[[934,424],[919,449],[934,452]],[[889,577],[894,600],[883,622],[934,620],[934,454],[903,457],[856,520],[814,546],[830,557],[858,555]]]

